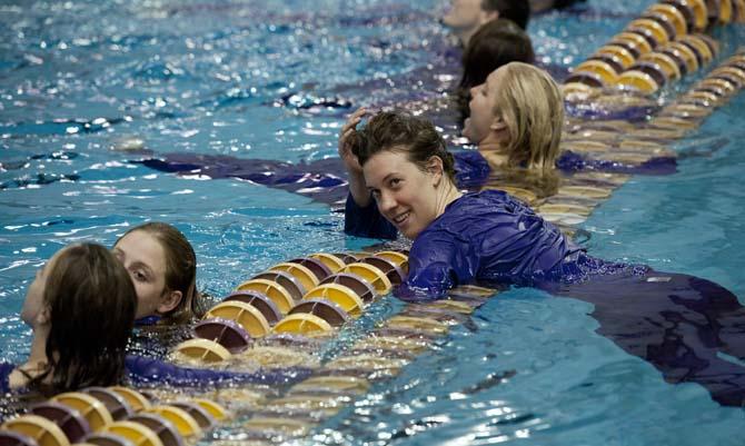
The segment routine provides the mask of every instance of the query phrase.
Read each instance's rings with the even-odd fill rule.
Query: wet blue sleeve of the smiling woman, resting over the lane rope
[[[409,251],[409,274],[396,290],[401,300],[427,301],[444,297],[458,285],[473,283],[478,252],[468,240],[444,229],[427,230]]]

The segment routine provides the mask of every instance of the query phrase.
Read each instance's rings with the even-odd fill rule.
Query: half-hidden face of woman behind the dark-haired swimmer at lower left
[[[137,318],[166,313],[166,251],[151,234],[135,230],[113,247],[113,255],[125,265],[137,291]]]

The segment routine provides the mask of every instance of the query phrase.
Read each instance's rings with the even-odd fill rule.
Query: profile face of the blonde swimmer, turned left
[[[470,89],[470,117],[464,123],[463,136],[473,143],[483,143],[487,138],[495,142],[506,142],[506,126],[495,112],[496,97],[504,76],[503,67],[491,72],[485,83]]]

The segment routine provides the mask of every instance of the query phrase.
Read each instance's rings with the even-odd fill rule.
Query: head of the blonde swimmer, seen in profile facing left
[[[509,167],[553,169],[564,123],[564,100],[554,79],[511,62],[471,89],[464,136],[479,149],[498,146]]]

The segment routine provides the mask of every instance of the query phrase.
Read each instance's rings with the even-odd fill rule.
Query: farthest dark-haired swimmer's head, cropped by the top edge
[[[443,24],[450,28],[465,47],[476,31],[494,19],[507,19],[526,29],[530,8],[525,0],[451,0]]]

